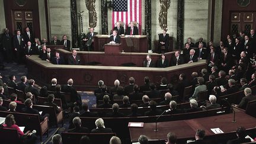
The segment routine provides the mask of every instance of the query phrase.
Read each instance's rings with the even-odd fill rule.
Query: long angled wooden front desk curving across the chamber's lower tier
[[[69,55],[71,55],[71,52],[69,52]],[[101,57],[95,58],[101,59]],[[83,59],[81,61],[83,62]],[[113,85],[115,79],[119,79],[120,85],[127,85],[129,84],[130,76],[136,79],[137,85],[143,85],[145,76],[149,76],[153,82],[160,82],[162,77],[166,77],[168,81],[173,81],[181,72],[184,72],[185,75],[191,75],[191,72],[200,72],[202,68],[206,68],[206,65],[206,60],[168,68],[53,65],[41,60],[37,55],[30,56],[27,59],[28,78],[35,79],[37,84],[50,84],[52,78],[57,78],[58,84],[66,84],[68,79],[72,78],[74,86],[83,91],[87,91],[90,88],[94,89],[100,79],[108,87]]]

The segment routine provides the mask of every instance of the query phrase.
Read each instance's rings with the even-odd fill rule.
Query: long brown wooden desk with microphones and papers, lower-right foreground
[[[194,139],[197,129],[204,129],[206,137],[219,137],[223,139],[226,135],[234,134],[238,126],[245,129],[255,130],[256,118],[245,114],[243,111],[236,113],[236,123],[232,123],[233,113],[220,116],[204,117],[199,119],[167,121],[158,123],[158,132],[154,132],[155,123],[144,123],[144,127],[129,127],[132,142],[137,142],[140,135],[148,136],[149,140],[165,140],[169,132],[174,132],[180,141]],[[224,133],[217,134],[212,132],[212,128],[219,127]]]

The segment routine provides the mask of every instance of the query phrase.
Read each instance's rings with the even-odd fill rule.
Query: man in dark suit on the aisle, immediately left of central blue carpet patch
[[[73,85],[73,79],[69,79],[68,84],[63,85],[62,92],[71,93],[71,101],[75,105],[79,105],[79,107],[81,107],[81,105],[82,105],[81,95],[78,94],[78,92],[76,91],[76,89],[74,87],[72,87],[72,85]]]

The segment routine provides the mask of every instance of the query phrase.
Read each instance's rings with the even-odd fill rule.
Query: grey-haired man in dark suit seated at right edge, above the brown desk
[[[243,97],[242,100],[240,101],[240,103],[235,106],[245,110],[247,108],[248,102],[256,100],[256,96],[252,95],[251,88],[245,88],[244,94],[245,94],[245,97]]]

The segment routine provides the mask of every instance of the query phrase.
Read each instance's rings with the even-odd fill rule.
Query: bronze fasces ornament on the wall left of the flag
[[[89,27],[96,27],[97,25],[97,12],[95,10],[96,0],[85,0],[85,5],[89,11]]]

